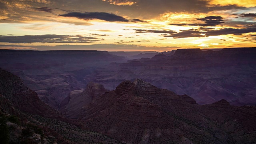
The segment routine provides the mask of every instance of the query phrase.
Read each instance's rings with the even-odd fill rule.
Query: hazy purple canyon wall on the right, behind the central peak
[[[141,78],[158,88],[186,94],[198,104],[226,99],[230,104],[256,104],[256,48],[202,51],[178,49],[167,56],[112,63],[86,75],[86,81],[114,90],[124,80]]]

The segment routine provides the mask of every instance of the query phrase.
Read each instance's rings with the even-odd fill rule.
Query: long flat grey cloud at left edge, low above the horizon
[[[104,39],[101,39],[104,40]],[[86,37],[81,35],[26,35],[26,36],[0,36],[0,42],[6,43],[91,43],[100,41],[98,38]]]

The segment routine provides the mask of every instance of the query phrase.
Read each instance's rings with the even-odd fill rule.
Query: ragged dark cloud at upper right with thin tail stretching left
[[[223,24],[224,21],[221,16],[206,16],[204,18],[197,18],[196,20],[200,20],[204,22],[204,24],[170,24],[175,26],[217,26]]]

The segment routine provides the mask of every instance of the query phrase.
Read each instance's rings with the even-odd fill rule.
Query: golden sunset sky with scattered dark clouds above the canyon
[[[256,47],[256,0],[0,0],[0,49]]]

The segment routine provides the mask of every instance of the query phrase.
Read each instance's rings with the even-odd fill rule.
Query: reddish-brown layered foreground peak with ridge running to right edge
[[[127,144],[256,142],[255,106],[226,100],[201,106],[140,79],[94,98],[80,118],[83,128]]]

